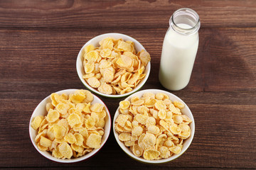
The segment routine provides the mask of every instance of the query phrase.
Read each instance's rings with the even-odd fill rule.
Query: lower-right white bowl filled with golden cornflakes
[[[167,91],[138,91],[119,102],[114,137],[129,157],[148,164],[170,162],[193,140],[193,115],[181,98]]]

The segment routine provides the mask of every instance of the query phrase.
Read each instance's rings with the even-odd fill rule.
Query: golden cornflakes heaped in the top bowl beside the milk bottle
[[[105,38],[100,47],[84,48],[83,79],[102,94],[125,94],[132,91],[146,76],[149,52],[136,52],[134,42]],[[53,102],[54,104],[58,101]]]

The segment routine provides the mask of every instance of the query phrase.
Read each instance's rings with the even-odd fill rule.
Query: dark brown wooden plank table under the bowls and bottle
[[[103,33],[136,38],[151,54],[142,89],[164,89],[158,79],[162,42],[170,16],[183,7],[201,18],[191,81],[170,91],[195,119],[188,150],[167,164],[142,164],[111,132],[85,162],[60,164],[39,154],[28,135],[31,114],[55,91],[85,89],[75,69],[82,45]],[[256,1],[0,1],[0,37],[0,168],[255,169]],[[100,98],[113,118],[123,98]]]

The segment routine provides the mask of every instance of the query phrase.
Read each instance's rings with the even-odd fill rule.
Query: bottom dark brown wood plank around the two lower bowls
[[[159,165],[159,168],[255,168],[255,92],[176,91],[175,94],[186,101],[191,108],[196,123],[196,133],[191,146],[181,157],[173,162]],[[41,156],[29,139],[28,122],[31,113],[45,95],[45,91],[39,90],[31,93],[1,92],[3,96],[0,98],[1,168],[63,167],[63,164],[51,162]],[[119,99],[102,98],[102,100],[106,102],[113,118]],[[99,160],[100,164],[98,164]],[[65,167],[86,166],[102,169],[103,165],[114,169],[126,166],[129,169],[154,168],[129,158],[117,145],[112,133],[106,145],[95,157],[86,162],[65,164]]]

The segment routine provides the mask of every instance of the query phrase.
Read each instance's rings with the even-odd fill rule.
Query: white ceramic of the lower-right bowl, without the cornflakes
[[[177,96],[175,96],[174,94],[171,94],[167,91],[162,91],[162,90],[158,90],[158,89],[147,89],[147,90],[142,90],[142,91],[138,91],[137,93],[134,93],[132,94],[131,96],[125,98],[126,101],[131,101],[131,98],[133,96],[138,96],[139,98],[142,97],[143,94],[145,93],[153,93],[153,94],[157,94],[157,93],[164,93],[164,94],[167,94],[169,96],[169,98],[171,99],[171,101],[181,101],[182,103],[184,103],[181,98],[178,98]],[[181,109],[181,112],[182,114],[184,115],[187,115],[188,118],[190,118],[192,120],[192,123],[189,124],[190,128],[191,128],[191,136],[188,137],[188,139],[184,140],[183,141],[183,148],[181,149],[181,153],[180,154],[174,154],[172,155],[171,157],[169,158],[166,158],[166,159],[159,159],[159,160],[146,160],[146,159],[143,159],[142,157],[136,157],[132,152],[131,150],[126,147],[124,145],[124,143],[122,141],[120,141],[118,139],[118,133],[117,131],[114,129],[114,122],[115,120],[117,119],[117,116],[119,115],[119,107],[117,108],[117,111],[116,113],[114,114],[114,119],[113,119],[113,132],[114,132],[114,137],[115,139],[117,140],[117,143],[119,144],[119,146],[124,150],[125,153],[127,153],[129,155],[129,157],[132,157],[132,159],[135,159],[139,162],[143,162],[143,163],[146,163],[146,164],[161,164],[161,163],[166,163],[166,162],[170,162],[174,159],[176,159],[177,157],[181,156],[181,154],[183,154],[186,149],[188,149],[189,145],[191,145],[191,142],[193,140],[193,136],[194,136],[194,133],[195,133],[195,122],[194,122],[194,119],[193,119],[193,115],[191,113],[191,111],[189,110],[188,106],[185,104],[185,107]]]

